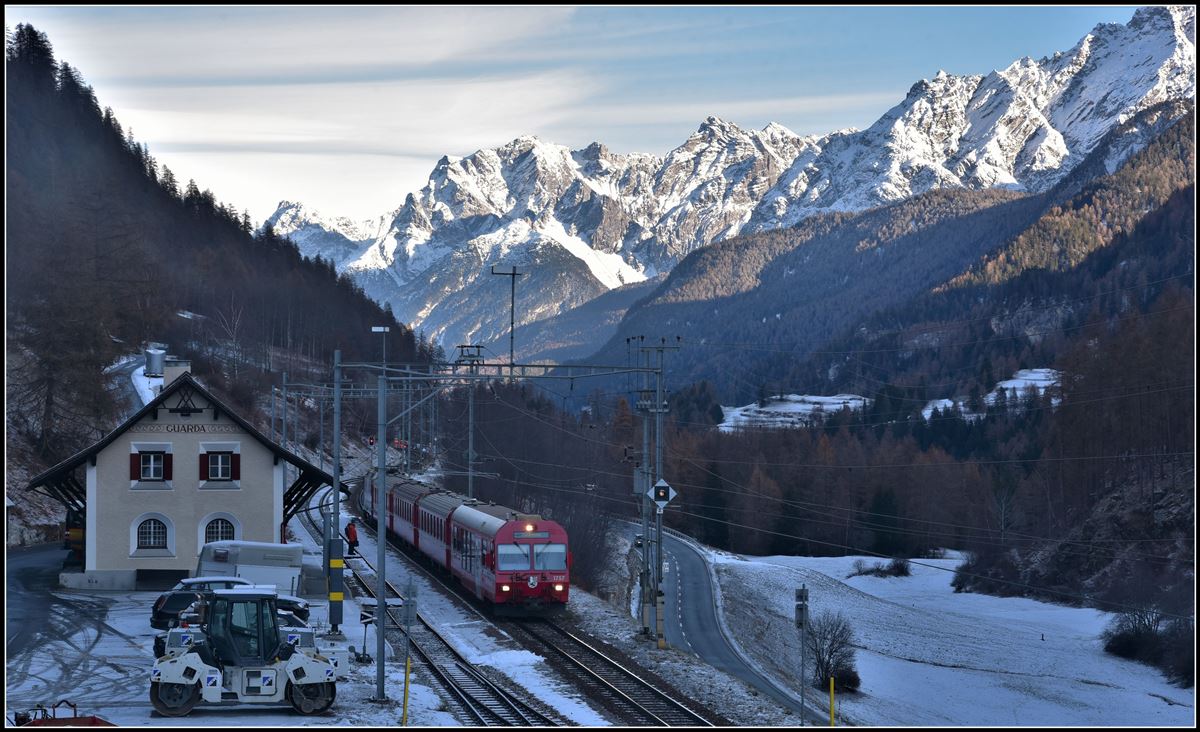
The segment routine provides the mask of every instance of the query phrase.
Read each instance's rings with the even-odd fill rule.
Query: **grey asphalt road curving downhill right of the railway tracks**
[[[630,534],[641,532],[641,527],[628,526]],[[709,666],[738,677],[779,704],[799,714],[799,700],[755,671],[725,637],[716,617],[712,577],[700,552],[686,541],[666,532],[662,534],[662,547],[665,608],[662,635],[667,643],[673,648],[696,654]],[[809,709],[806,719],[809,721],[816,719],[812,709]]]

